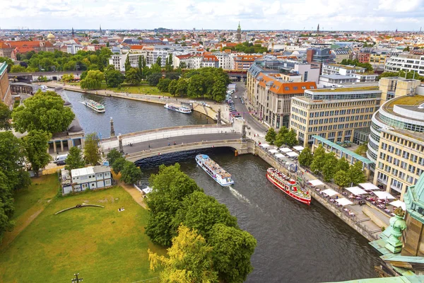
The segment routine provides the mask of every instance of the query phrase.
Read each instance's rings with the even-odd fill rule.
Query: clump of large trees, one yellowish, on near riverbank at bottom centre
[[[160,166],[149,183],[146,234],[170,247],[167,257],[148,250],[151,268],[163,268],[161,281],[244,282],[257,241],[225,204],[206,195],[178,163]]]

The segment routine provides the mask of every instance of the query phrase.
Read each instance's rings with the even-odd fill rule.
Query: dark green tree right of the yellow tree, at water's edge
[[[253,271],[250,258],[257,241],[247,231],[224,224],[215,224],[211,229],[208,244],[213,247],[213,269],[223,282],[242,283]]]

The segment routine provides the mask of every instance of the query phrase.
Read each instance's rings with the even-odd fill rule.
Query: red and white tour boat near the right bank
[[[278,187],[278,189],[290,195],[290,197],[293,197],[293,199],[304,204],[311,204],[311,195],[309,191],[298,188],[295,180],[288,178],[276,168],[268,168],[266,171],[266,178]]]

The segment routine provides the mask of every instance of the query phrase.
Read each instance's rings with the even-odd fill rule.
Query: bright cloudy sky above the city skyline
[[[0,0],[0,28],[424,30],[424,0]]]

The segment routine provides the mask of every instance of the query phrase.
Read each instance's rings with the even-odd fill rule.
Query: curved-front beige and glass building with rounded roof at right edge
[[[368,141],[374,183],[401,200],[424,173],[424,86],[417,93],[386,101],[372,116]]]

